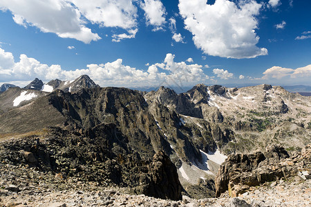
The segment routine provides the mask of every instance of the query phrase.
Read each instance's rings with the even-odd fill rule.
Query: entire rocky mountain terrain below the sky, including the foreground
[[[0,206],[310,206],[310,143],[281,86],[3,84]]]

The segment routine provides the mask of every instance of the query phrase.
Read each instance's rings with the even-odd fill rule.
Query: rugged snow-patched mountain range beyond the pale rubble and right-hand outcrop
[[[39,139],[38,147],[43,151],[27,143],[19,144],[23,148],[12,144],[15,147],[6,149],[31,152],[35,157],[32,165],[66,176],[86,173],[86,163],[91,169],[112,161],[120,168],[111,168],[115,175],[108,176],[106,182],[131,186],[135,193],[155,197],[178,199],[176,179],[191,197],[213,197],[214,179],[227,156],[264,151],[273,145],[293,155],[310,143],[311,97],[281,86],[198,84],[178,94],[163,86],[150,92],[100,88],[82,75],[74,81],[55,79],[44,84],[35,79],[25,88],[7,88],[0,94],[1,139]],[[55,148],[52,139],[62,142],[54,154],[48,151]],[[79,143],[86,150],[84,158],[78,156],[84,153],[77,148]],[[0,158],[8,156],[5,151]],[[165,167],[150,166],[154,159]],[[24,161],[29,164],[29,160]],[[136,162],[140,164],[135,171],[132,167]],[[167,168],[170,170],[164,173]],[[102,173],[111,173],[103,169]],[[96,173],[87,175],[103,182]],[[175,180],[174,193],[169,196],[161,193],[165,191],[162,188],[159,191],[158,183],[168,177]]]

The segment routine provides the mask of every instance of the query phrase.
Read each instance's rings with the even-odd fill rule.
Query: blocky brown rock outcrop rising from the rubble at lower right
[[[289,157],[288,152],[278,146],[271,146],[264,153],[229,155],[216,175],[216,196],[228,190],[230,196],[236,197],[251,186],[282,177],[288,179],[304,170],[308,173],[311,170],[311,145],[293,157]]]

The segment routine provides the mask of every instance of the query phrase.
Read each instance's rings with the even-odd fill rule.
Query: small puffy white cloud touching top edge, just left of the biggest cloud
[[[147,25],[154,26],[153,31],[162,30],[165,21],[165,8],[160,0],[144,0],[140,3],[144,10]]]

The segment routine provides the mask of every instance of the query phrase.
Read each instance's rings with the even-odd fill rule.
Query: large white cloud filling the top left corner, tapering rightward
[[[13,19],[22,26],[35,26],[42,32],[53,32],[59,37],[73,38],[84,43],[101,39],[85,26],[81,13],[64,0],[3,0],[0,8],[10,10]]]

